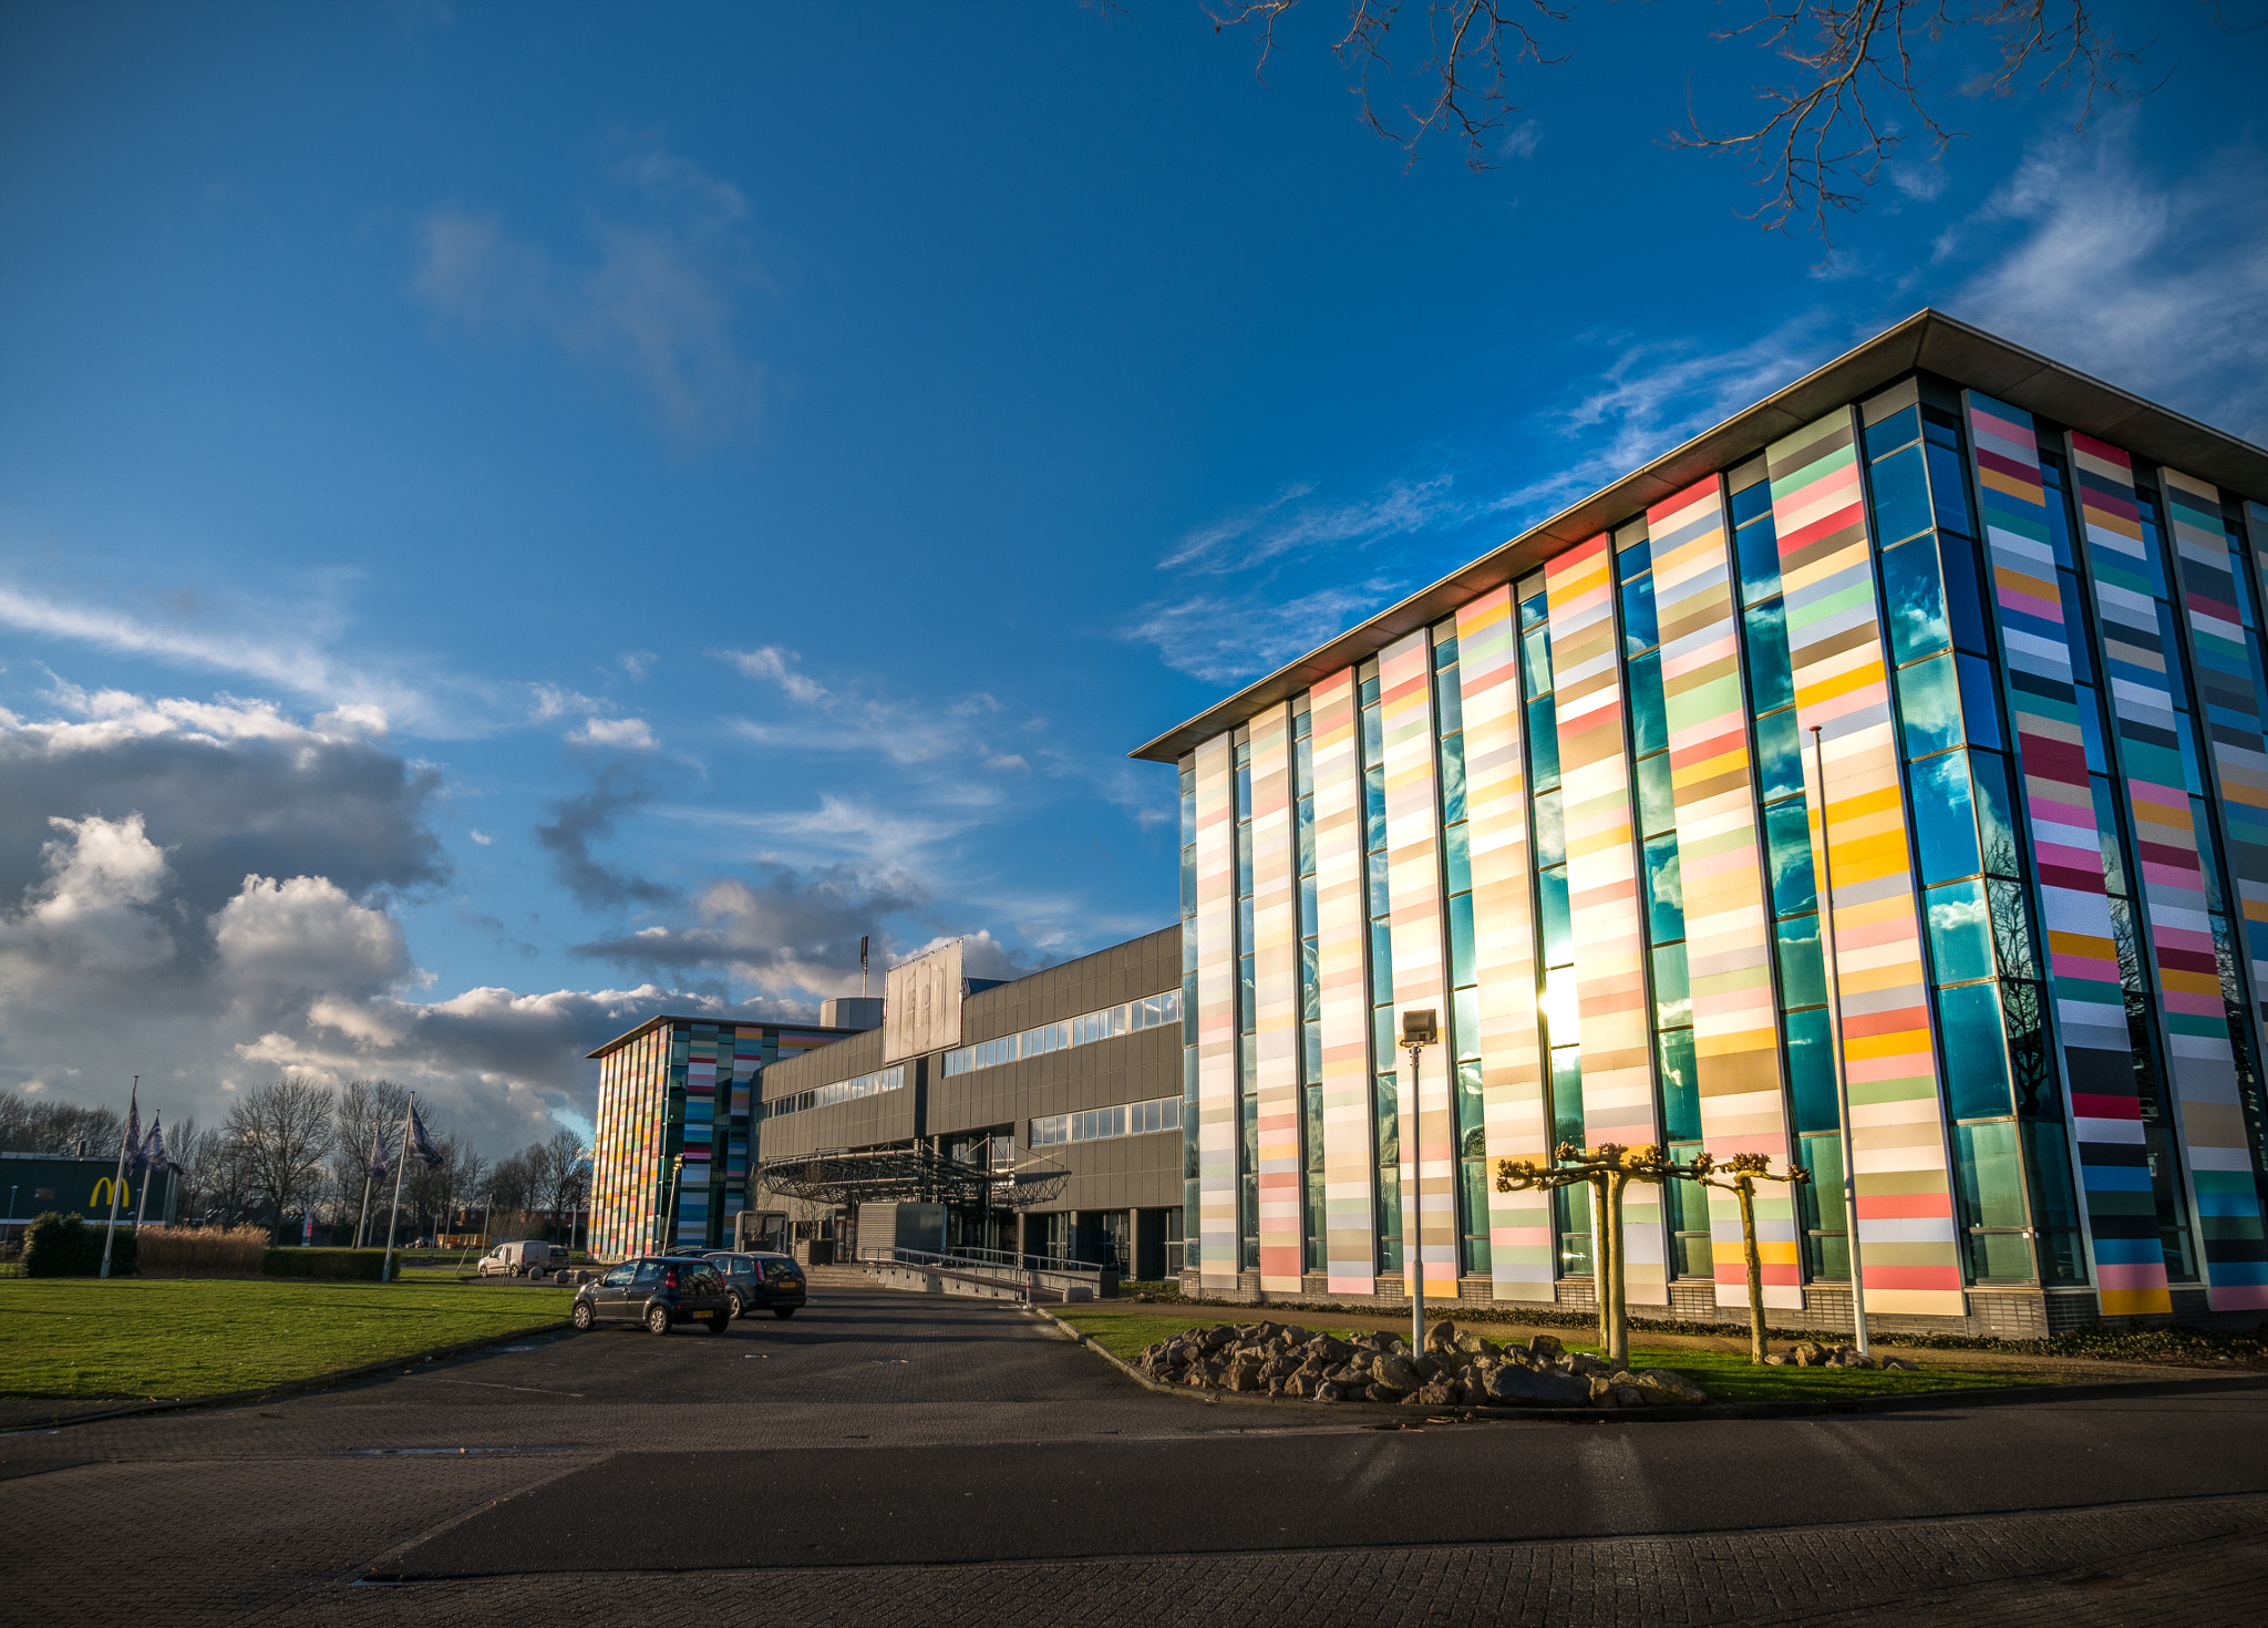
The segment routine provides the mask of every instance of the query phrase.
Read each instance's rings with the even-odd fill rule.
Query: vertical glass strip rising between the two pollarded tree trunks
[[[1647,959],[1653,977],[1653,1066],[1662,1129],[1678,1161],[1701,1152],[1701,1072],[1694,1063],[1692,975],[1685,964],[1685,882],[1678,868],[1678,809],[1669,789],[1669,712],[1662,698],[1662,635],[1653,608],[1653,553],[1644,526],[1615,537],[1615,594],[1622,605],[1624,701],[1631,785],[1637,787],[1640,877]],[[1662,1195],[1669,1274],[1715,1277],[1708,1188],[1672,1181]]]

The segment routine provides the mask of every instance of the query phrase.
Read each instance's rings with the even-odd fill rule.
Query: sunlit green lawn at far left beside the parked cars
[[[290,1279],[0,1281],[0,1394],[211,1397],[567,1317],[562,1288]]]

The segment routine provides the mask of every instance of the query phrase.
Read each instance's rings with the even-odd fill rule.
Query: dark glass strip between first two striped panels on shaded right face
[[[2152,957],[2146,952],[2148,907],[2141,898],[2141,871],[2134,866],[2134,830],[2127,825],[2125,798],[2118,796],[2123,769],[2116,757],[2118,732],[2109,726],[2102,707],[2100,626],[2093,596],[2082,590],[2093,562],[2080,546],[2075,515],[2077,492],[2071,483],[2071,465],[2059,453],[2041,451],[2041,478],[2048,497],[2048,533],[2055,546],[2055,576],[2064,590],[2064,619],[2089,630],[2089,637],[2073,639],[2073,676],[2077,685],[2080,735],[2087,748],[2087,785],[2096,803],[2096,837],[2102,843],[2102,887],[2112,907],[2112,934],[2118,946],[2118,986],[2125,995],[2127,1038],[2134,1043],[2134,1093],[2141,1104],[2143,1150],[2150,1170],[2150,1199],[2157,1206],[2157,1236],[2166,1258],[2170,1283],[2198,1281],[2198,1245],[2189,1227],[2189,1199],[2182,1190],[2182,1163],[2175,1150],[2173,1104],[2166,1093],[2166,1032],[2159,1020]],[[2152,544],[2152,560],[2157,560]],[[2114,571],[2114,587],[2123,585],[2127,571],[2121,562],[2107,562]],[[2161,567],[2159,567],[2161,571]],[[2139,592],[2150,594],[2150,583]],[[2159,596],[2161,599],[2161,596]],[[2164,633],[2170,633],[2170,614],[2157,605]],[[2161,637],[2164,637],[2161,633]],[[2175,658],[2177,660],[2177,658]],[[2195,753],[2184,753],[2184,773]]]

